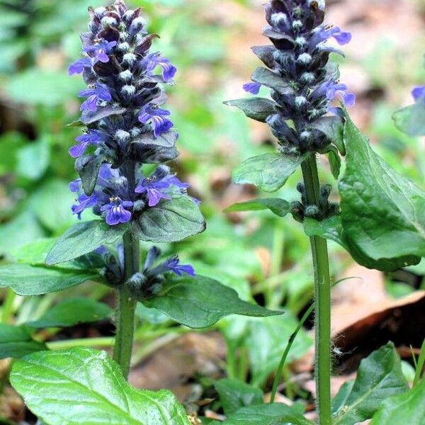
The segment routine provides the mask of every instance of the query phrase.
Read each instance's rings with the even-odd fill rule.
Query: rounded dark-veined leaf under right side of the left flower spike
[[[205,230],[198,205],[187,196],[162,200],[142,212],[132,231],[142,241],[178,242]]]

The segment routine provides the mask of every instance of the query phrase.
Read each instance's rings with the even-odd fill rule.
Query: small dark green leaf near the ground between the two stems
[[[214,382],[214,387],[227,416],[241,407],[263,404],[263,392],[242,380],[220,379]]]

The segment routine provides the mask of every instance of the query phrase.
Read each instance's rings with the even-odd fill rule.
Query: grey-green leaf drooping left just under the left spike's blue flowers
[[[127,226],[110,226],[103,220],[82,222],[67,229],[47,254],[46,264],[52,266],[89,254],[103,244],[113,244],[123,236]]]

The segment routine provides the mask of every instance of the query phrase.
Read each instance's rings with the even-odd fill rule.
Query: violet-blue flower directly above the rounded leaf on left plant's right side
[[[167,166],[159,166],[151,176],[140,181],[135,192],[146,193],[149,207],[154,207],[162,199],[171,199],[169,194],[164,192],[171,186],[182,189],[189,187],[188,183],[183,183],[176,176],[169,174]]]

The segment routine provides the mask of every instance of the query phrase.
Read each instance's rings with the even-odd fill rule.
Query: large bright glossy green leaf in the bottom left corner
[[[49,425],[189,425],[171,392],[130,387],[105,351],[40,351],[13,364],[11,384]]]

